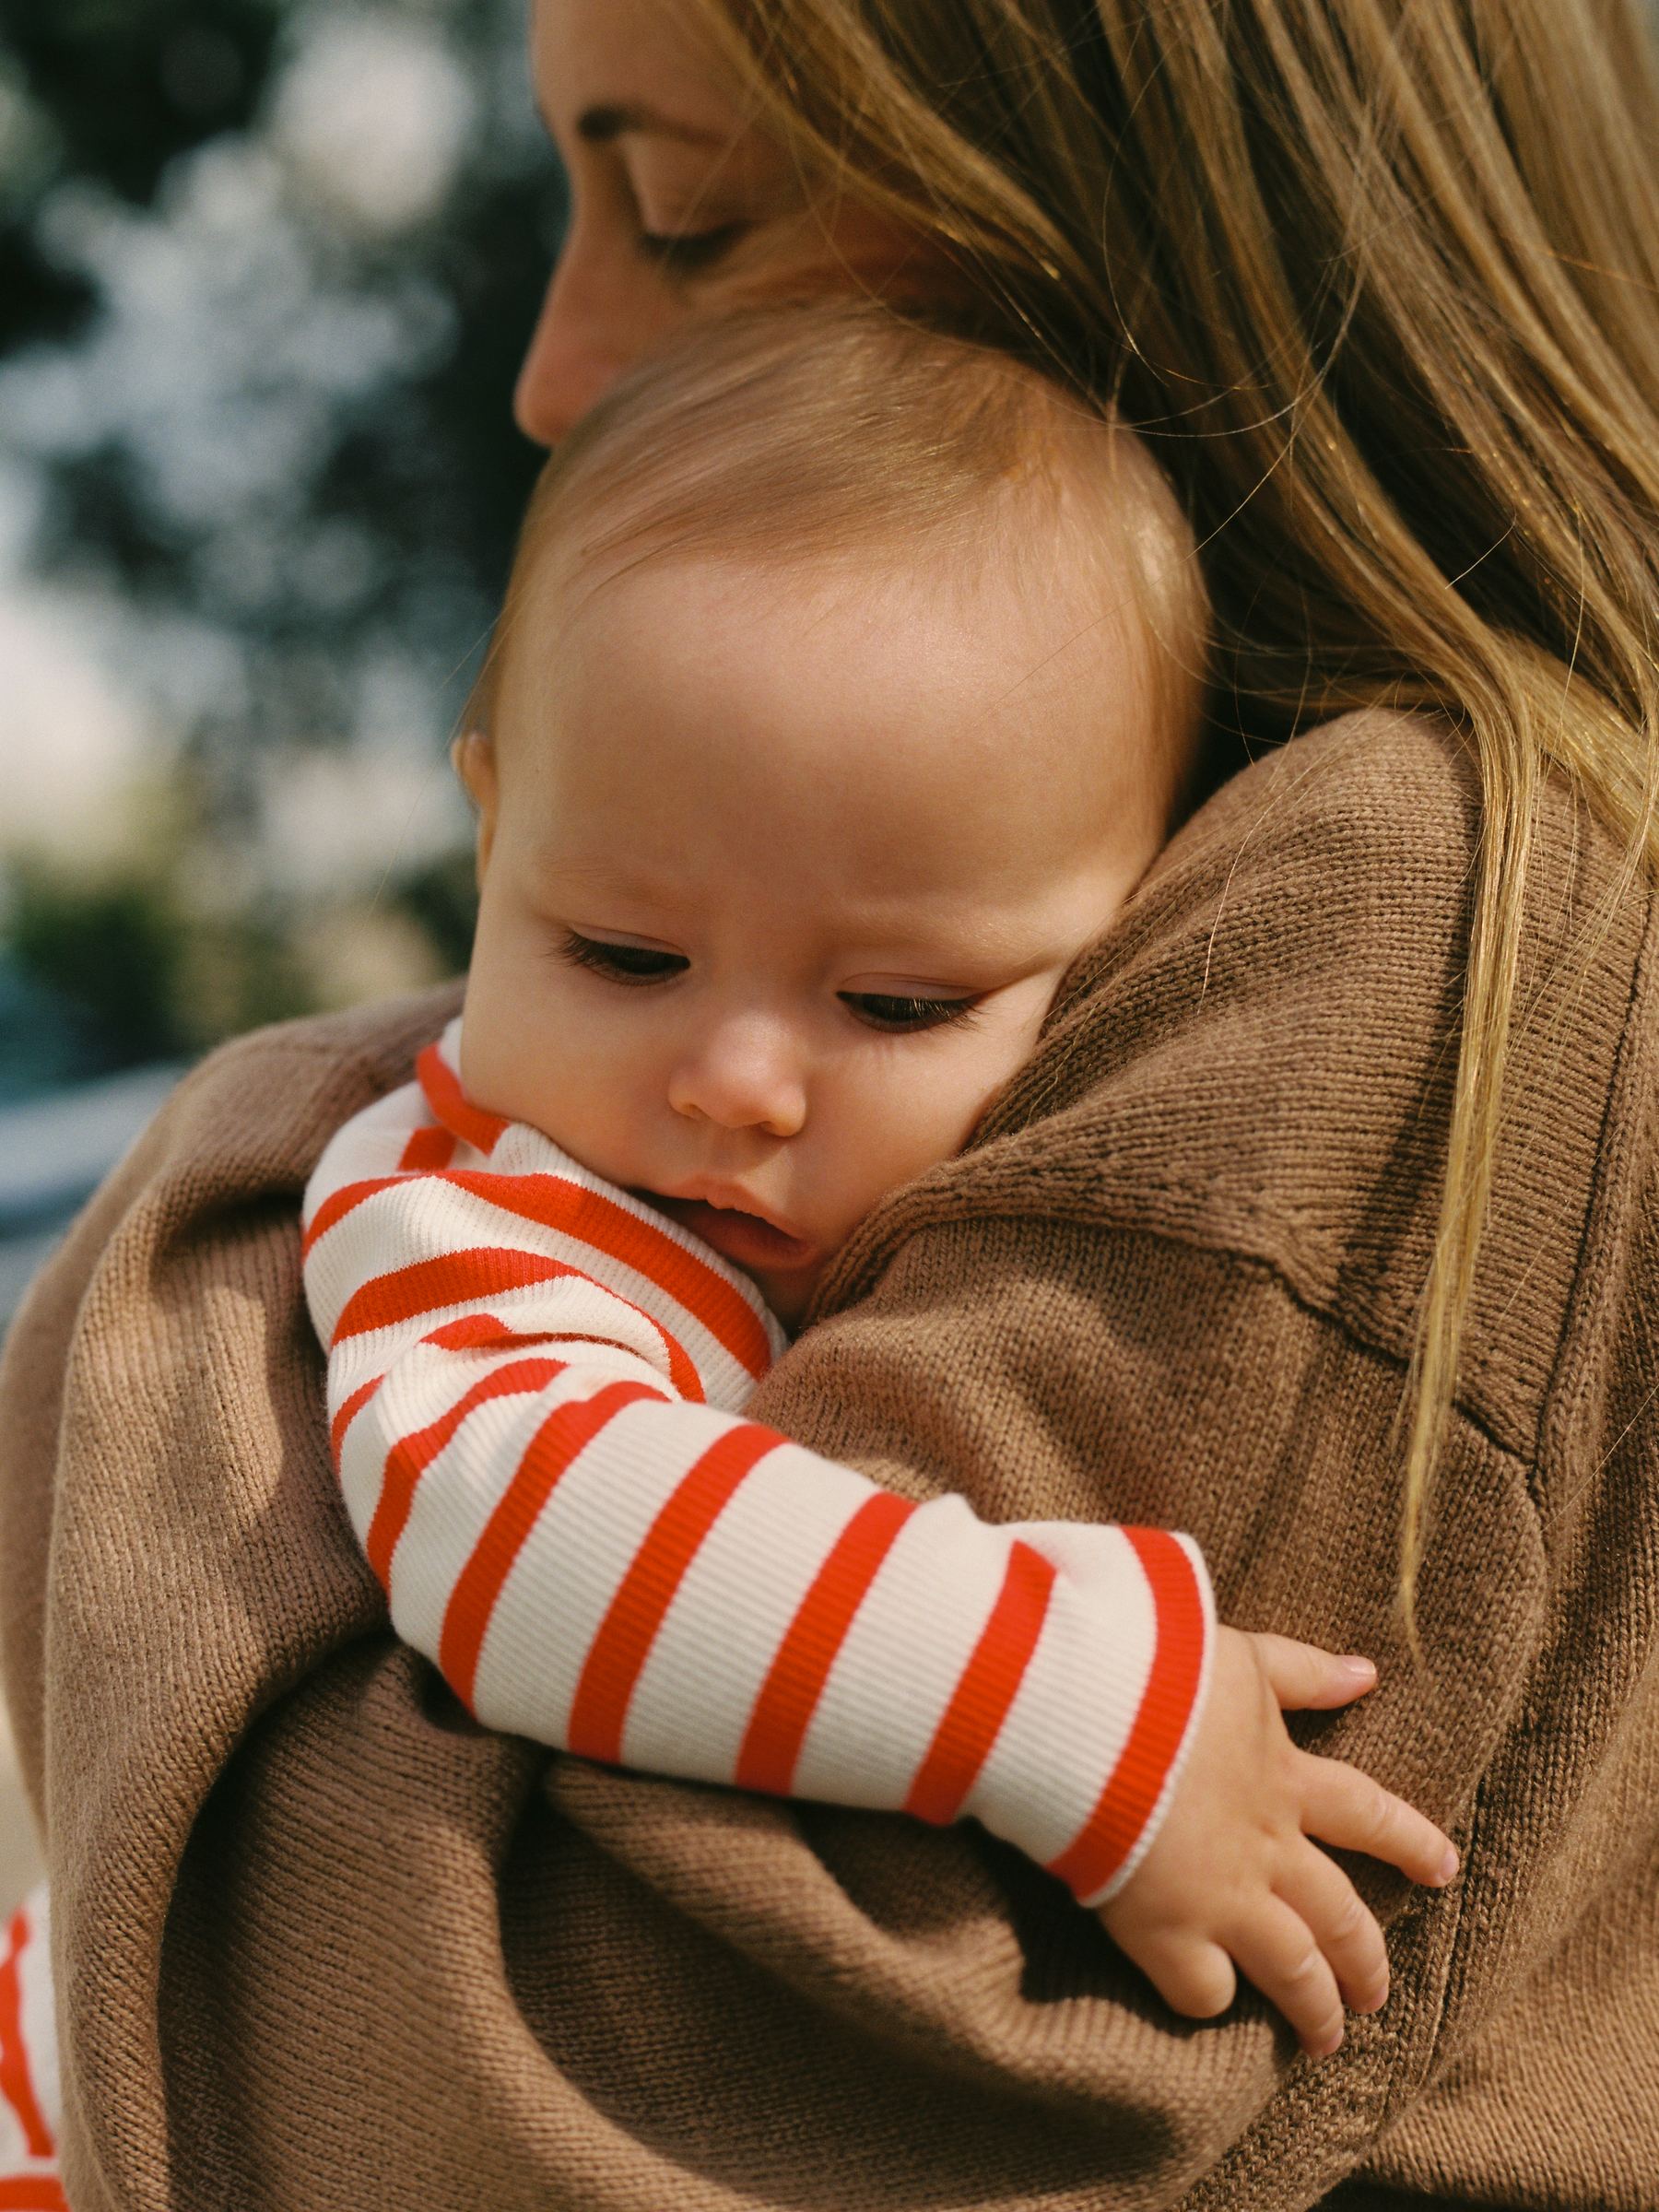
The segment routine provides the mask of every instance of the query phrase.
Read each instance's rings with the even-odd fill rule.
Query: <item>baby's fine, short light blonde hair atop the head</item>
[[[1093,606],[1117,622],[1175,816],[1197,757],[1206,602],[1172,491],[1091,400],[869,301],[692,323],[593,407],[531,495],[467,726],[493,732],[546,562],[568,593],[659,557],[856,577],[872,555],[940,588],[987,575],[1035,597],[1060,588],[1086,622]]]

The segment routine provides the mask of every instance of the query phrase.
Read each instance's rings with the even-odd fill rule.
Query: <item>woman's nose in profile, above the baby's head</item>
[[[608,239],[604,226],[575,217],[513,392],[518,427],[538,445],[557,445],[684,314],[655,272],[628,254],[626,239]]]

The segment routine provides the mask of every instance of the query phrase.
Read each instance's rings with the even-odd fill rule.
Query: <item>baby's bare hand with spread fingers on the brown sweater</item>
[[[1405,1798],[1290,1741],[1281,1708],[1347,1705],[1376,1683],[1369,1659],[1290,1637],[1217,1632],[1210,1699],[1150,1851],[1099,1918],[1177,2013],[1210,2020],[1250,1975],[1303,2051],[1343,2042],[1343,2004],[1389,1993],[1383,1929],[1310,1836],[1385,1858],[1436,1887],[1458,1871],[1447,1836]]]

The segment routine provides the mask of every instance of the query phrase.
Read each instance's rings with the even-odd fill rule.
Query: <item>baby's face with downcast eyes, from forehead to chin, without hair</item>
[[[1077,635],[1082,628],[1084,635]],[[650,562],[511,641],[462,1079],[785,1323],[958,1150],[1157,849],[1126,624]]]

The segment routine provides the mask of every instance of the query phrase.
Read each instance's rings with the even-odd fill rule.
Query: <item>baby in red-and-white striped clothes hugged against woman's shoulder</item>
[[[991,1526],[741,1416],[1159,852],[1201,670],[1181,513],[1079,400],[863,307],[681,341],[531,504],[458,743],[465,1018],[325,1150],[305,1290],[352,1524],[480,1721],[975,1816],[1177,2011],[1237,1964],[1332,2051],[1387,1955],[1310,1838],[1455,1867],[1283,1730],[1369,1666],[1217,1630],[1188,1537]]]

